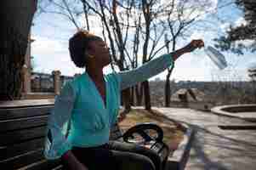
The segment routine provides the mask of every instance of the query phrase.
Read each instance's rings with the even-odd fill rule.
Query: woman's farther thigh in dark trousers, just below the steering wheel
[[[139,155],[147,156],[153,161],[156,170],[162,168],[161,158],[157,155],[156,151],[150,150],[139,144],[128,144],[119,141],[110,141],[109,147],[111,150],[119,150],[124,152],[136,153]]]

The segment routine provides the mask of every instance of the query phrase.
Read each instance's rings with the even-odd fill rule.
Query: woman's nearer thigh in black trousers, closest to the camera
[[[77,160],[82,162],[88,170],[156,170],[154,163],[148,156],[110,149],[72,150]],[[71,170],[63,162],[65,170]]]

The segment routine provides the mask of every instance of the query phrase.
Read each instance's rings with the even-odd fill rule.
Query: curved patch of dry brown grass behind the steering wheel
[[[184,131],[164,116],[161,116],[157,111],[145,111],[142,109],[134,109],[128,112],[127,116],[119,122],[122,131],[125,132],[129,127],[140,122],[155,122],[163,130],[163,142],[168,144],[171,150],[176,150],[179,143],[184,137]]]

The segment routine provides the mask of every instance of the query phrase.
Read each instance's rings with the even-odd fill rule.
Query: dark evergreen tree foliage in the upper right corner
[[[246,24],[232,27],[227,31],[226,36],[214,39],[216,48],[222,51],[230,50],[235,54],[243,54],[245,50],[256,51],[256,1],[255,0],[236,0],[236,5],[241,8]],[[249,45],[240,41],[251,40]]]

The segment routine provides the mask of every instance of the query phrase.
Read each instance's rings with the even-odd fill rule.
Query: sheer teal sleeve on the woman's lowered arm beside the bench
[[[61,89],[60,95],[55,97],[54,109],[48,116],[45,139],[44,156],[47,159],[58,159],[67,150],[71,150],[71,144],[65,138],[65,133],[75,99],[76,93],[69,82]]]

